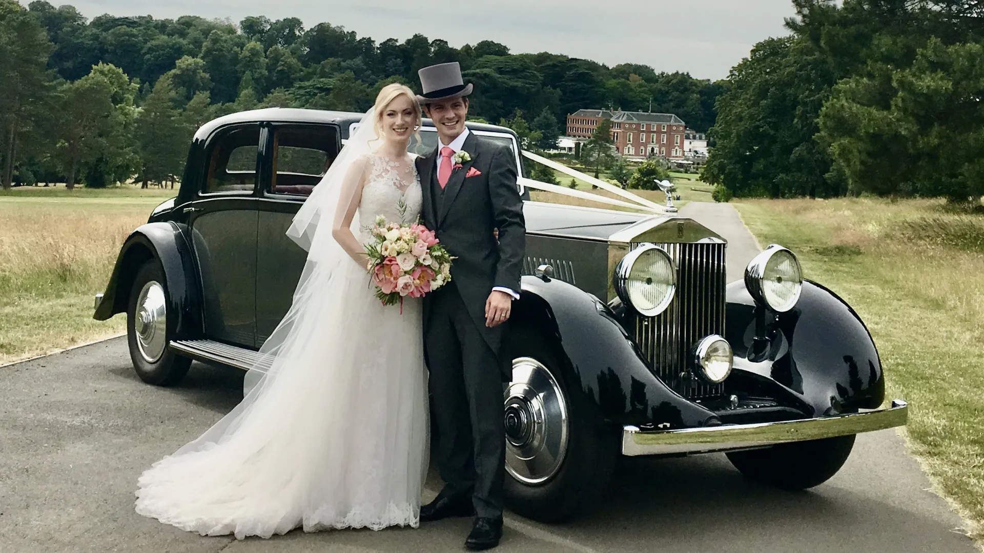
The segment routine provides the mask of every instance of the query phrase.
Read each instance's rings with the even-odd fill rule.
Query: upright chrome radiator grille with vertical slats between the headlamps
[[[723,385],[684,375],[691,371],[690,352],[698,340],[713,334],[724,336],[725,244],[656,245],[676,264],[676,295],[663,313],[639,316],[636,343],[656,375],[684,398],[720,396]]]

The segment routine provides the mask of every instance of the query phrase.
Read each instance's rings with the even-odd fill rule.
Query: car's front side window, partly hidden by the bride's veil
[[[274,194],[309,196],[337,156],[338,129],[327,125],[280,128],[274,134]]]

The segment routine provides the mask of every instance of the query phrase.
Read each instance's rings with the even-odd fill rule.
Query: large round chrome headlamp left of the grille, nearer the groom
[[[673,301],[676,267],[663,249],[644,244],[615,268],[615,291],[623,303],[644,317],[655,317]]]

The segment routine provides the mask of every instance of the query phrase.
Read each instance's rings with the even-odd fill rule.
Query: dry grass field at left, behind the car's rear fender
[[[92,320],[123,240],[173,193],[14,189],[0,194],[0,364],[124,330]]]

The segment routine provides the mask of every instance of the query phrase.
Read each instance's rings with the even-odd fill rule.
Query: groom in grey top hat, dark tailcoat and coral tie
[[[458,258],[451,282],[424,298],[424,350],[445,487],[420,508],[420,520],[474,514],[464,545],[488,549],[502,536],[506,435],[499,355],[512,302],[520,297],[523,201],[513,152],[464,127],[472,87],[461,80],[459,64],[425,67],[419,76],[417,100],[438,135],[438,147],[416,160],[424,224]]]

